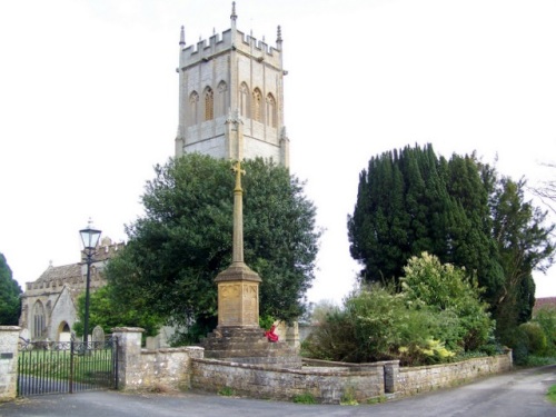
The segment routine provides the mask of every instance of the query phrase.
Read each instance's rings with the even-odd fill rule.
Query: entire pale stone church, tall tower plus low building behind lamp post
[[[232,3],[230,29],[186,46],[179,38],[179,120],[176,157],[199,152],[230,160],[262,157],[289,167],[284,123],[282,38],[274,47],[237,29]],[[123,244],[101,240],[90,289],[106,281],[102,269]],[[77,320],[77,298],[86,289],[87,265],[49,266],[22,295],[19,325],[28,338],[64,341]]]

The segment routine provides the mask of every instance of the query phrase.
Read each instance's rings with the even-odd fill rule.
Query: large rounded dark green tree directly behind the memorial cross
[[[316,209],[286,168],[262,159],[244,168],[244,256],[262,278],[260,315],[290,321],[314,279]],[[128,245],[107,277],[122,305],[189,326],[195,339],[216,326],[214,279],[231,264],[235,178],[228,161],[196,153],[155,170],[146,215],[127,226]]]

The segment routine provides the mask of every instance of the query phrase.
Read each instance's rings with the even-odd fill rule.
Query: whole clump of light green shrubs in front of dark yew
[[[480,290],[465,270],[424,252],[394,286],[354,291],[306,339],[304,353],[318,359],[401,365],[438,364],[490,346],[494,321]]]

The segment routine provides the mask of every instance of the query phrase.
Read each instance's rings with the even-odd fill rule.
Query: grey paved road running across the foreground
[[[50,395],[0,404],[0,417],[549,417],[545,399],[556,366],[513,371],[461,387],[377,405],[331,406],[230,398],[202,394],[131,395],[117,391]]]

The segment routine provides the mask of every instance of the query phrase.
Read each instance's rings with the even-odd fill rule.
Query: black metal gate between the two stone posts
[[[21,340],[18,396],[118,389],[116,337],[105,341]]]

